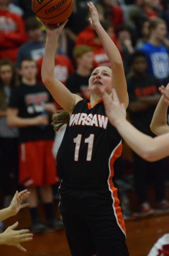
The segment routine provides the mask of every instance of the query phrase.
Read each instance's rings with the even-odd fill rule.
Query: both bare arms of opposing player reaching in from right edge
[[[161,135],[155,138],[138,131],[126,120],[126,110],[123,104],[120,104],[115,89],[113,89],[112,93],[113,99],[105,90],[102,90],[106,115],[109,121],[117,128],[117,131],[132,150],[146,161],[156,161],[169,156],[169,125],[166,124],[169,105],[169,84],[166,89],[161,86],[159,90],[163,96],[158,102],[151,127],[153,127],[152,131],[156,135]]]

